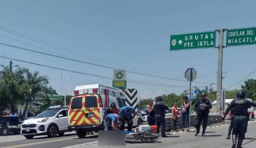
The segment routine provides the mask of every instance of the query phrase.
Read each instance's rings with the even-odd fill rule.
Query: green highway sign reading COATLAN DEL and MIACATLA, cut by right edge
[[[256,27],[227,30],[226,46],[256,44]]]

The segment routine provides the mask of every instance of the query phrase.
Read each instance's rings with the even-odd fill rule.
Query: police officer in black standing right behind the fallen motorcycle
[[[167,137],[165,134],[165,110],[169,110],[169,108],[162,102],[163,98],[158,96],[155,98],[156,104],[154,105],[155,109],[155,119],[157,132],[159,133],[161,128],[162,137]]]

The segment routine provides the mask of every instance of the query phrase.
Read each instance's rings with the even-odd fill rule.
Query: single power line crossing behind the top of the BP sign
[[[85,64],[90,64],[90,65],[94,65],[94,66],[98,66],[98,67],[104,67],[104,68],[108,68],[108,69],[115,69],[114,67],[108,67],[108,66],[98,65],[98,64],[89,63],[89,62],[85,62],[85,61],[80,61],[80,60],[76,60],[76,59],[70,59],[70,58],[67,58],[67,57],[61,57],[61,56],[58,56],[58,55],[52,55],[52,54],[49,54],[49,53],[43,53],[43,52],[40,52],[40,51],[35,51],[35,50],[23,48],[23,47],[18,47],[18,46],[6,44],[6,43],[0,43],[0,44],[1,44],[1,45],[5,45],[5,46],[9,46],[9,47],[14,47],[14,48],[26,50],[26,51],[31,51],[31,52],[36,52],[36,53],[44,54],[44,55],[49,55],[49,56],[53,56],[53,57],[58,57],[58,58],[61,58],[61,59],[67,59],[67,60],[70,60],[70,61],[76,61],[76,62],[85,63]],[[138,74],[138,75],[150,76],[150,77],[157,77],[157,78],[162,78],[162,79],[169,79],[169,80],[174,80],[174,81],[187,82],[187,81],[185,81],[185,80],[171,79],[171,78],[168,78],[168,77],[160,77],[160,76],[156,76],[156,75],[148,75],[148,74],[137,73],[137,72],[133,72],[133,71],[126,71],[126,72],[128,72],[128,73],[134,73],[134,74]],[[203,83],[203,82],[193,82],[193,83],[210,84],[210,83]]]

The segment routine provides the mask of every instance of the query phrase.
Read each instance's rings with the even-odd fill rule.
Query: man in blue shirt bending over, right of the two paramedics
[[[128,125],[127,131],[132,132],[132,124],[133,124],[132,120],[137,115],[137,112],[135,111],[134,107],[130,107],[130,106],[122,107],[120,109],[119,115],[122,118],[120,130],[124,130],[124,125],[127,123]]]

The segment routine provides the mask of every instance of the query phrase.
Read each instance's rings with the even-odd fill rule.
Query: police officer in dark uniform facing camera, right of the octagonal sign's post
[[[209,100],[206,99],[206,96],[207,96],[206,93],[202,93],[201,99],[198,102],[196,102],[196,105],[195,105],[195,112],[198,120],[196,124],[195,136],[199,134],[201,122],[203,121],[202,136],[206,137],[204,133],[207,127],[209,112],[210,112],[210,109],[212,109],[212,104],[210,103]]]

